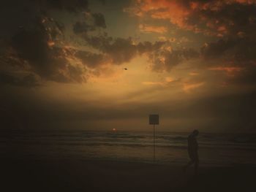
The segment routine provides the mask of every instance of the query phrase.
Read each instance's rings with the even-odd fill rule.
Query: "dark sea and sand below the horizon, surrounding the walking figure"
[[[2,191],[252,191],[255,135],[200,134],[199,171],[187,133],[1,132]]]

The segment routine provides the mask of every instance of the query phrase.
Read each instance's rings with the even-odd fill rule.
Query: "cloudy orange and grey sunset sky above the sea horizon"
[[[1,1],[1,129],[255,132],[255,0]],[[126,70],[127,69],[127,70]]]

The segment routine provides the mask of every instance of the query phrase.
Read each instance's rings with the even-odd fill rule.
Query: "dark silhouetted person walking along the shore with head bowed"
[[[187,150],[189,152],[189,158],[190,161],[187,163],[186,166],[184,166],[184,172],[186,172],[187,167],[191,166],[192,164],[195,164],[195,174],[197,174],[197,169],[198,169],[198,144],[197,144],[197,135],[199,134],[199,131],[194,130],[192,134],[189,134],[189,137],[187,137]]]

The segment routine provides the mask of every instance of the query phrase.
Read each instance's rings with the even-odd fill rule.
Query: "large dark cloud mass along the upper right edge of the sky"
[[[187,20],[189,25],[201,28],[205,34],[218,36],[201,48],[206,67],[237,67],[229,82],[253,85],[256,64],[256,1],[212,1],[214,7],[201,9],[200,5]],[[203,3],[203,4],[208,4]],[[219,70],[221,70],[219,68]]]

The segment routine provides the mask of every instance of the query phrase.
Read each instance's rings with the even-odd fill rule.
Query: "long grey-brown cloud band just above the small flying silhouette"
[[[199,56],[199,53],[192,48],[167,50],[167,48],[171,49],[170,41],[139,42],[135,44],[131,38],[113,39],[108,34],[99,36],[85,35],[83,38],[91,47],[107,54],[113,64],[123,64],[131,61],[136,55],[146,54],[153,64],[153,70],[157,72],[170,71],[173,66],[180,64],[182,61]]]

